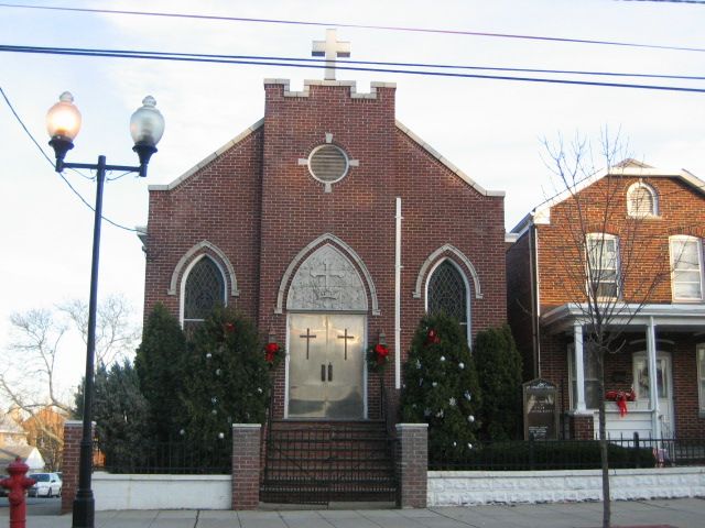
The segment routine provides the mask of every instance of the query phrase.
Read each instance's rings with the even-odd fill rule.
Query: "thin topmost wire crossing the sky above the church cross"
[[[256,18],[224,16],[224,15],[213,15],[213,14],[167,13],[167,12],[156,12],[156,11],[127,11],[127,10],[116,10],[116,9],[22,6],[18,3],[0,3],[0,7],[19,8],[19,9],[41,9],[41,10],[51,10],[51,11],[70,11],[70,12],[83,12],[83,13],[100,13],[100,14],[129,14],[129,15],[140,15],[140,16],[161,16],[161,18],[187,19],[187,20],[212,20],[212,21],[219,21],[219,22],[249,22],[249,23],[261,23],[261,24],[308,25],[308,26],[326,26],[326,28],[336,26],[336,28],[358,29],[358,30],[438,33],[438,34],[446,34],[446,35],[519,38],[519,40],[528,40],[528,41],[547,41],[547,42],[560,42],[560,43],[571,43],[571,44],[598,44],[598,45],[609,45],[609,46],[652,48],[652,50],[671,50],[671,51],[679,51],[679,52],[705,52],[705,48],[703,47],[642,44],[642,43],[618,42],[618,41],[599,41],[599,40],[590,40],[590,38],[564,38],[564,37],[557,37],[557,36],[522,35],[522,34],[512,34],[512,33],[489,33],[489,32],[465,31],[465,30],[442,30],[442,29],[432,29],[432,28],[411,28],[411,26],[373,25],[373,24],[346,24],[341,22],[318,22],[318,21],[283,20],[283,19],[256,19]]]

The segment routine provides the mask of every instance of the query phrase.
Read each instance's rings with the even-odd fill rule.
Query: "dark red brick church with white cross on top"
[[[321,43],[327,59],[340,44]],[[333,59],[303,91],[265,80],[260,121],[150,187],[145,312],[163,302],[185,328],[216,302],[248,315],[288,353],[276,420],[379,420],[426,311],[468,342],[506,320],[505,194],[400,123],[394,85],[359,94]],[[379,342],[382,383],[365,362]]]

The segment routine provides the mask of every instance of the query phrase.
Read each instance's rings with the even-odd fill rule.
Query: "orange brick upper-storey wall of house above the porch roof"
[[[579,193],[586,232],[606,232],[620,240],[623,298],[629,301],[671,302],[669,237],[705,235],[705,197],[673,178],[642,178],[659,195],[659,218],[627,216],[627,189],[636,177],[605,177]],[[599,206],[611,200],[610,206]],[[551,223],[536,226],[542,312],[584,298],[584,253],[572,199],[551,209]],[[654,280],[653,277],[661,279]],[[556,277],[561,277],[556,280]],[[652,293],[646,288],[653,286]]]

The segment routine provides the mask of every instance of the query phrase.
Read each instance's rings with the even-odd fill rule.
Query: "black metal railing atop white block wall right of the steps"
[[[429,450],[430,470],[541,471],[600,468],[598,440],[481,443],[471,451]],[[610,438],[610,469],[705,465],[705,439]]]

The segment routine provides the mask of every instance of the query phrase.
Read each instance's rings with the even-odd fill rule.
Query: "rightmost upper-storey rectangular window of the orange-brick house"
[[[703,299],[703,246],[695,237],[671,237],[671,287],[676,300]]]

